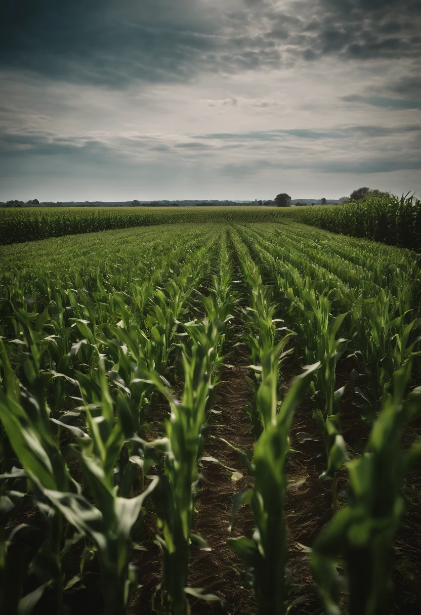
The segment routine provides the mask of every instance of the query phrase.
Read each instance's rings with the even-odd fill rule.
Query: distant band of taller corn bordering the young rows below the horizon
[[[373,197],[318,207],[66,207],[0,210],[0,245],[174,223],[300,222],[420,252],[421,200]]]

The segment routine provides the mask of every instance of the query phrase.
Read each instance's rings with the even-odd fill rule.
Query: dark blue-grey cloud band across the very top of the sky
[[[0,66],[68,81],[187,81],[201,71],[417,57],[419,0],[6,0]]]

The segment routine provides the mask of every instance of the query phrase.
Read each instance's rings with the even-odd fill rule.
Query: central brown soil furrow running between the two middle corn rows
[[[202,493],[196,502],[194,531],[204,538],[211,552],[192,549],[190,585],[192,587],[209,587],[227,603],[227,612],[235,615],[248,615],[254,606],[251,590],[241,587],[238,570],[241,563],[227,545],[228,525],[231,520],[231,503],[233,494],[252,488],[253,479],[247,475],[244,466],[239,465],[238,454],[231,450],[219,438],[226,438],[231,444],[243,450],[251,450],[254,440],[251,424],[244,405],[249,403],[252,393],[244,376],[249,373],[246,367],[247,357],[237,348],[230,356],[233,367],[225,368],[219,385],[215,410],[220,413],[212,415],[215,424],[211,436],[205,444],[204,455],[218,459],[224,466],[238,469],[243,478],[230,480],[231,473],[224,467],[212,463],[203,463]],[[232,536],[251,536],[254,528],[253,516],[249,506],[240,507],[238,522]],[[223,613],[219,603],[192,601],[194,615],[216,615]]]

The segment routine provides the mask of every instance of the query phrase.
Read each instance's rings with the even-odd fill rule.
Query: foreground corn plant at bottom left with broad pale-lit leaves
[[[38,598],[45,585],[52,582],[55,608],[57,613],[62,613],[62,562],[74,542],[84,536],[90,542],[88,552],[96,553],[98,557],[104,613],[123,615],[127,612],[129,591],[135,584],[136,576],[130,566],[130,534],[137,523],[143,501],[155,483],[135,498],[118,496],[114,486],[114,467],[124,438],[121,426],[114,418],[105,372],[102,368],[98,381],[81,373],[77,374],[77,378],[74,384],[79,384],[84,402],[87,432],[50,418],[45,396],[36,399],[22,387],[19,390],[8,368],[6,394],[0,392],[0,419],[46,519],[46,537],[31,563],[41,581]],[[70,429],[77,438],[78,446],[73,452],[84,474],[86,495],[71,478],[55,445],[51,421]],[[71,532],[68,524],[76,531]],[[8,548],[6,544],[6,557]],[[13,552],[12,549],[10,554],[13,555]],[[79,580],[80,577],[73,579],[74,582]],[[18,589],[22,589],[22,584]]]

